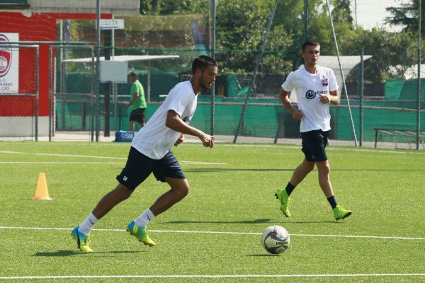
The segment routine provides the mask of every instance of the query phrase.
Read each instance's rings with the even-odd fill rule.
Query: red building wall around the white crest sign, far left
[[[112,14],[101,14],[101,18],[112,18]],[[18,33],[19,41],[26,42],[53,42],[57,38],[57,20],[94,20],[94,13],[23,13],[0,12],[0,34]],[[1,48],[1,46],[0,46]],[[1,51],[0,51],[1,52]],[[49,115],[49,57],[50,44],[40,44],[38,115],[43,120],[48,120]],[[18,93],[35,93],[35,52],[26,48],[19,51]],[[55,70],[52,70],[53,72]],[[1,93],[4,93],[2,91]],[[18,96],[0,96],[0,117],[32,117],[34,112],[34,98]],[[47,133],[47,125],[40,121],[39,134]]]

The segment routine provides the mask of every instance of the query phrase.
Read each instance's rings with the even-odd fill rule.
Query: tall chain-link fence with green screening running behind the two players
[[[333,69],[339,83],[341,105],[331,107],[331,142],[423,146],[421,125],[425,118],[421,113],[425,103],[421,101],[425,86],[418,78],[425,67],[418,76],[418,33],[408,30],[409,25],[399,30],[395,30],[396,25],[387,25],[391,13],[385,10],[414,1],[329,1],[331,6],[327,6],[328,1],[304,1],[304,7],[302,1],[290,7],[286,1],[278,1],[278,13],[293,7],[309,11],[309,17],[300,13],[291,22],[283,21],[280,14],[271,19],[273,0],[253,1],[251,4],[259,6],[249,13],[258,16],[261,8],[265,12],[257,17],[258,23],[246,18],[244,25],[248,27],[234,26],[233,30],[239,30],[235,33],[226,28],[241,16],[238,10],[226,13],[234,8],[231,2],[238,0],[217,6],[215,49],[211,47],[212,11],[208,8],[188,15],[117,16],[124,18],[126,28],[102,32],[101,61],[125,62],[124,67],[104,65],[96,73],[93,47],[52,47],[52,140],[94,141],[99,137],[113,141],[115,132],[130,129],[127,104],[131,83],[123,74],[137,74],[144,87],[149,120],[171,88],[191,77],[193,58],[208,54],[217,59],[219,75],[214,89],[198,97],[191,125],[214,134],[218,141],[293,142],[300,137],[299,122],[283,108],[278,93],[289,72],[302,66],[300,45],[304,37],[313,37],[321,42],[319,65]],[[244,5],[236,9],[242,13],[249,8]],[[417,21],[417,13],[412,14],[413,22],[415,17]],[[270,34],[261,50],[271,20]],[[351,27],[346,28],[346,22]],[[94,21],[71,21],[67,28],[67,40],[95,38]],[[239,47],[229,47],[232,42],[240,42]],[[112,78],[102,80],[105,74]],[[115,78],[118,76],[120,80]],[[293,97],[291,101],[296,106]]]

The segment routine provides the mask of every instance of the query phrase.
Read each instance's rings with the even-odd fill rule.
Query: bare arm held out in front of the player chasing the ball
[[[202,141],[203,146],[205,147],[214,146],[214,136],[205,134],[200,129],[196,129],[195,127],[187,125],[185,122],[183,122],[183,120],[181,120],[180,115],[177,114],[174,110],[169,110],[167,112],[165,125],[170,129],[174,129],[174,131],[176,132],[181,132],[182,134],[190,134],[191,136],[198,137],[200,141]]]

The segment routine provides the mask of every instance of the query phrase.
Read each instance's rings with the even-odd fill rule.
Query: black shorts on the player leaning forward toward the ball
[[[117,180],[130,190],[135,190],[151,173],[154,173],[155,178],[161,182],[165,182],[167,177],[186,179],[172,151],[169,151],[162,159],[155,160],[131,147],[127,163],[117,176]]]

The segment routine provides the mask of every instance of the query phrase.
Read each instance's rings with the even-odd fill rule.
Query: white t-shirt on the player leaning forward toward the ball
[[[181,135],[174,129],[166,127],[167,112],[174,110],[180,115],[181,120],[189,124],[196,110],[197,98],[191,81],[177,83],[145,127],[135,134],[131,146],[149,158],[156,160],[163,158]]]

